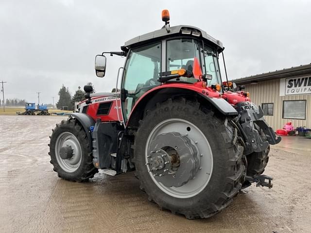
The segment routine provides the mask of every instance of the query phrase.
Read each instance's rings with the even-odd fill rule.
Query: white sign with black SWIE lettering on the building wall
[[[280,96],[311,94],[311,76],[280,80]]]

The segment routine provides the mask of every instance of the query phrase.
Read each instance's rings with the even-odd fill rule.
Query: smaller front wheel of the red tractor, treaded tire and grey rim
[[[56,124],[52,132],[49,155],[51,156],[50,162],[54,166],[53,170],[57,172],[58,177],[76,182],[86,182],[89,178],[93,178],[98,169],[93,165],[92,148],[86,132],[78,121],[75,118],[62,120],[61,123]],[[71,158],[60,157],[60,147],[66,145],[67,142],[73,145],[76,156],[79,156],[76,163],[70,162]]]

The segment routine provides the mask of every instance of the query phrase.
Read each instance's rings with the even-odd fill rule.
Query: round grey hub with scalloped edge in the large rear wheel
[[[167,187],[180,187],[193,179],[200,167],[195,143],[178,132],[162,133],[150,143],[146,166]]]

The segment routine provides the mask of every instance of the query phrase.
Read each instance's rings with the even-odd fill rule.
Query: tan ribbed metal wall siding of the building
[[[274,103],[273,116],[264,116],[269,125],[276,131],[291,121],[294,127],[311,128],[311,95],[280,96],[280,80],[263,81],[257,84],[246,84],[245,91],[250,93],[251,100],[261,106],[261,103]],[[283,119],[283,100],[307,100],[306,119]]]

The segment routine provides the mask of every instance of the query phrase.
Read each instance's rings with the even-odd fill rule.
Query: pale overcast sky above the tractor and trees
[[[310,0],[0,0],[0,81],[5,98],[55,103],[92,82],[111,91],[124,58],[107,57],[98,78],[94,57],[163,25],[199,27],[225,46],[229,79],[311,63]],[[2,99],[2,95],[0,97]]]

